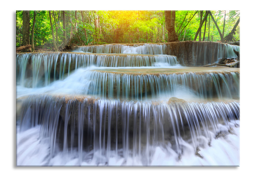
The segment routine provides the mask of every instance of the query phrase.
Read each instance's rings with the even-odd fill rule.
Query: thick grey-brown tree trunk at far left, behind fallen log
[[[29,44],[29,11],[23,10],[22,12],[22,45]],[[24,52],[31,52],[31,49],[25,49]]]

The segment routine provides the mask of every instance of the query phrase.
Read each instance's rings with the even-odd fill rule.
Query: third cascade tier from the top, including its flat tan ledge
[[[88,71],[87,94],[142,100],[148,96],[192,91],[201,98],[238,98],[237,68],[98,69]]]

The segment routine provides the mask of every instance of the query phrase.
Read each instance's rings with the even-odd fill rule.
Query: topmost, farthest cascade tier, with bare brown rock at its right
[[[76,46],[78,51],[91,53],[133,53],[148,55],[174,55],[183,66],[211,64],[219,58],[236,58],[233,49],[240,52],[240,46],[208,41],[183,41],[169,43],[104,44]]]

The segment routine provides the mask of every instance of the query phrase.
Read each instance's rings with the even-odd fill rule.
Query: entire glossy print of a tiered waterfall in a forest
[[[239,166],[240,11],[17,10],[16,166]]]

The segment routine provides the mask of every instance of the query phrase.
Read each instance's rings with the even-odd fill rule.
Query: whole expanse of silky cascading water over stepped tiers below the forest
[[[167,48],[17,54],[17,165],[238,166],[239,68],[182,67]]]

